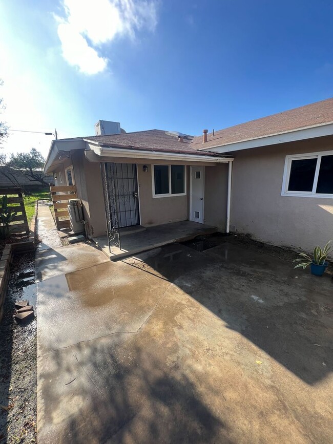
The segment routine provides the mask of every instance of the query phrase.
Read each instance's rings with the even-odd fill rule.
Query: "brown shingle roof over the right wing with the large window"
[[[194,137],[191,147],[195,150],[205,150],[330,122],[333,122],[333,98],[230,126],[216,131],[214,136],[209,133],[205,143],[202,143],[202,136]]]

